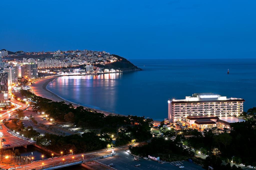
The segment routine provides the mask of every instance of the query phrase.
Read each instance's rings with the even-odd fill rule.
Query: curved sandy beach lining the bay
[[[77,103],[73,103],[71,101],[65,100],[65,99],[61,98],[60,96],[56,95],[55,93],[53,93],[52,91],[47,89],[47,85],[58,77],[60,77],[60,76],[54,76],[54,77],[49,77],[49,78],[46,78],[46,79],[35,81],[31,86],[32,92],[37,96],[47,98],[47,99],[50,99],[50,100],[53,100],[53,101],[64,101],[66,104],[72,104],[74,107],[82,106],[82,105],[79,105]],[[84,108],[89,108],[89,109],[92,109],[92,110],[96,110],[97,112],[103,113],[105,115],[113,114],[112,112],[99,110],[99,109],[94,109],[94,108],[90,108],[90,107],[87,107],[87,106],[83,106],[83,107]],[[114,113],[114,115],[127,116],[127,115],[118,114],[118,113]],[[161,122],[161,121],[156,121],[156,120],[153,120],[153,121],[156,124],[160,124],[160,122]]]

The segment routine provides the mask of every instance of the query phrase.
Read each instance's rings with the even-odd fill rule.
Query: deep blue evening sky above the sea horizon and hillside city
[[[0,48],[128,59],[256,58],[255,0],[3,1]]]

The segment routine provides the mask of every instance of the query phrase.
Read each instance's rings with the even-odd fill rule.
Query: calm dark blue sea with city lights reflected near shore
[[[83,106],[154,120],[167,117],[168,99],[184,99],[193,93],[244,98],[246,111],[256,106],[256,59],[130,61],[144,71],[63,76],[47,88]]]

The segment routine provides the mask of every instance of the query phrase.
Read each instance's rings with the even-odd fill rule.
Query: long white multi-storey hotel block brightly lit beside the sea
[[[243,112],[241,98],[227,98],[212,93],[195,93],[182,100],[168,100],[168,120],[185,121],[187,116],[239,116]]]

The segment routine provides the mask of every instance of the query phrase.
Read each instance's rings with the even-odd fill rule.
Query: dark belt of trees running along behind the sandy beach
[[[72,104],[66,104],[63,101],[56,102],[42,98],[27,90],[21,90],[21,93],[23,96],[31,98],[31,100],[34,101],[31,103],[34,110],[45,112],[50,118],[55,119],[55,122],[69,122],[75,126],[83,128],[99,129],[99,132],[90,132],[92,139],[96,137],[105,143],[103,142],[102,145],[99,145],[100,148],[94,149],[104,148],[106,143],[112,141],[112,138],[116,133],[118,133],[118,137],[116,138],[115,143],[116,146],[125,145],[134,141],[143,141],[152,137],[150,129],[153,126],[153,120],[145,119],[144,116],[121,116],[114,114],[105,115],[103,113],[98,113],[95,110],[87,109],[82,106],[74,108]],[[90,136],[87,137],[90,139]],[[55,138],[57,137],[50,135],[48,138],[45,136],[42,139],[55,141]],[[65,138],[69,139],[70,136],[61,137],[61,139],[65,141],[63,142],[63,145],[71,144],[69,140],[66,140]],[[47,145],[47,147],[51,146]],[[81,148],[79,151],[84,152],[87,150]]]

